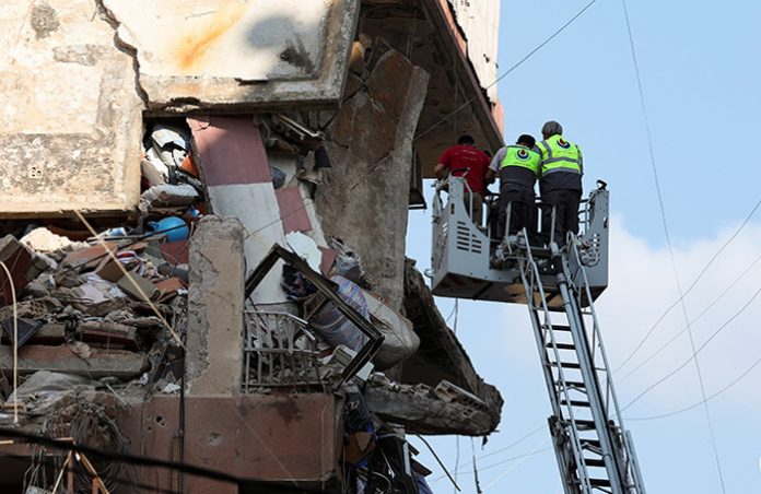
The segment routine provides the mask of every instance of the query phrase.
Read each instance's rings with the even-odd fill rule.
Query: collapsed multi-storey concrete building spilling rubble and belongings
[[[492,433],[405,237],[458,133],[502,143],[497,13],[0,12],[3,492],[424,493],[407,435]]]

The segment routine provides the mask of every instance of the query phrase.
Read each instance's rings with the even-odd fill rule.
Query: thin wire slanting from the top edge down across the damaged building
[[[552,39],[554,39],[555,37],[558,37],[563,31],[565,31],[571,24],[573,24],[578,17],[581,17],[581,16],[584,14],[584,12],[586,12],[586,11],[587,11],[593,4],[595,4],[596,2],[597,2],[597,0],[590,0],[590,1],[589,1],[586,5],[584,5],[578,12],[576,12],[569,21],[566,21],[562,26],[560,26],[558,30],[555,30],[549,37],[547,37],[543,42],[541,42],[541,43],[540,43],[539,45],[537,45],[534,49],[531,49],[528,54],[526,54],[523,58],[520,58],[517,62],[515,62],[510,69],[507,69],[505,72],[503,72],[503,73],[502,73],[500,77],[497,77],[493,82],[491,82],[490,84],[483,86],[483,89],[484,89],[484,90],[488,90],[488,89],[494,86],[495,84],[497,84],[500,81],[502,81],[502,80],[503,80],[504,78],[506,78],[507,75],[510,75],[514,70],[516,70],[518,67],[520,67],[522,64],[524,64],[529,58],[531,58],[537,51],[539,51],[540,49],[542,49],[542,48],[543,48],[545,46],[547,46]],[[409,144],[412,144],[413,142],[415,142],[415,141],[422,139],[423,137],[428,136],[428,134],[431,133],[434,129],[436,129],[438,126],[441,126],[442,124],[444,124],[445,121],[447,121],[449,118],[452,118],[454,115],[456,115],[456,114],[460,113],[463,109],[467,108],[467,107],[470,105],[470,103],[472,103],[472,102],[473,102],[475,99],[477,99],[478,97],[479,97],[479,96],[477,95],[477,96],[472,96],[472,97],[468,98],[465,103],[463,103],[461,105],[459,105],[458,107],[456,107],[454,110],[452,110],[452,111],[449,111],[448,114],[446,114],[446,115],[445,115],[444,117],[442,117],[438,121],[436,121],[436,122],[433,124],[431,127],[429,127],[428,129],[425,129],[424,131],[422,131],[421,133],[419,133],[417,137],[413,137],[413,138],[409,138],[409,137],[408,137],[408,138],[405,138],[405,139],[406,139],[405,142],[402,142],[401,144],[399,144],[397,148],[394,148],[391,151],[388,152],[388,154],[386,154],[385,156],[380,157],[380,158],[377,160],[375,163],[368,165],[367,168],[370,168],[370,172],[367,172],[367,173],[366,173],[363,177],[361,177],[359,180],[367,178],[367,176],[374,174],[374,173],[375,173],[376,170],[378,170],[378,169],[383,169],[379,165],[380,165],[382,163],[384,163],[386,160],[390,158],[390,157],[394,155],[394,153],[396,153],[397,151],[401,150],[402,148],[405,148],[405,146],[407,146],[407,145],[409,145]],[[396,130],[398,130],[398,129],[399,129],[399,126],[397,125],[397,126],[396,126]],[[352,153],[352,154],[353,154],[353,153]],[[362,157],[362,156],[358,156],[358,157]],[[333,189],[336,189],[336,188],[338,188],[338,187],[348,187],[348,188],[353,189],[354,187],[356,187],[356,186],[360,184],[359,180],[354,181],[353,184],[350,184],[349,181],[338,181],[338,183],[333,184],[332,186],[328,187],[328,188],[326,189],[326,192],[329,192],[329,191],[331,191],[331,190],[333,190]],[[311,207],[311,205],[314,205],[314,203],[315,203],[315,201],[312,200],[312,199],[309,199],[309,200],[308,200],[308,203],[303,203],[303,204],[301,204],[298,208],[295,208],[294,210],[292,210],[292,211],[285,213],[284,215],[280,216],[278,220],[272,220],[271,222],[266,223],[265,225],[258,227],[257,230],[247,231],[245,238],[248,238],[248,237],[250,237],[251,235],[256,235],[257,233],[259,233],[259,232],[261,232],[261,231],[264,231],[264,230],[266,230],[266,228],[268,228],[268,227],[270,227],[270,226],[272,226],[272,225],[274,225],[274,224],[281,222],[282,220],[284,220],[284,219],[291,216],[292,214],[296,214],[297,212],[300,212],[300,211],[302,211],[302,210],[304,210],[304,209],[306,209],[306,208],[308,208],[308,207]],[[244,238],[244,239],[245,239],[245,238]]]

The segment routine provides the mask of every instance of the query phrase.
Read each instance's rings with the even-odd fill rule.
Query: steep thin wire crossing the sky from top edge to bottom
[[[709,433],[711,436],[711,445],[713,447],[713,452],[714,452],[714,458],[716,460],[716,469],[718,472],[718,482],[719,485],[722,486],[722,492],[726,494],[726,487],[724,485],[724,473],[722,472],[722,462],[718,457],[718,447],[716,446],[716,435],[714,433],[714,427],[713,427],[713,421],[711,420],[711,411],[709,409],[709,403],[705,397],[705,384],[703,383],[703,374],[700,369],[700,362],[698,361],[698,352],[695,351],[695,342],[694,342],[694,337],[692,334],[692,329],[690,327],[690,317],[687,314],[687,304],[684,303],[684,294],[681,289],[681,283],[679,281],[679,272],[677,271],[677,262],[674,257],[674,247],[671,245],[671,236],[668,231],[668,222],[666,220],[666,208],[664,207],[664,198],[663,193],[660,190],[660,183],[658,180],[658,169],[655,163],[655,152],[653,150],[653,134],[651,132],[649,128],[649,118],[647,117],[647,106],[645,105],[645,92],[642,87],[642,74],[640,73],[640,63],[636,60],[636,49],[634,47],[634,35],[632,34],[632,25],[631,21],[629,19],[629,10],[627,9],[627,0],[621,0],[621,4],[623,5],[623,16],[624,20],[627,21],[627,33],[629,35],[629,45],[631,47],[631,52],[632,52],[632,61],[634,62],[634,73],[636,75],[636,84],[637,84],[637,90],[640,93],[640,105],[642,107],[642,115],[645,120],[645,130],[647,134],[647,146],[649,149],[649,155],[651,155],[651,164],[653,167],[653,177],[655,178],[655,189],[658,195],[658,205],[660,209],[660,219],[663,220],[664,224],[664,233],[666,235],[666,245],[668,247],[668,252],[669,257],[671,259],[671,267],[674,269],[674,278],[677,282],[677,291],[679,294],[679,301],[681,304],[682,308],[682,315],[684,317],[684,321],[687,322],[687,332],[690,336],[690,348],[692,350],[692,355],[695,361],[695,370],[698,373],[698,381],[700,384],[700,392],[703,398],[703,405],[705,408],[705,419],[707,421],[709,425]]]

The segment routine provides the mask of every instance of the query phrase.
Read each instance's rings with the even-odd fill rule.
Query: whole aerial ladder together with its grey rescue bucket
[[[448,177],[435,187],[432,291],[437,296],[528,307],[565,494],[645,494],[594,305],[608,283],[605,183],[598,181],[582,201],[581,234],[569,235],[562,248],[551,236],[548,246],[532,246],[530,240],[537,242],[525,230],[510,238],[513,242],[507,236],[493,238],[494,225],[476,225],[468,214],[471,207],[465,198],[471,195],[465,193],[464,178]],[[554,211],[542,208],[542,214],[551,214],[553,224]]]

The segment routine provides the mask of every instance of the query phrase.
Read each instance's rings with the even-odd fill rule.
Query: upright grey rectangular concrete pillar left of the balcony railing
[[[186,381],[190,396],[241,391],[245,230],[235,217],[206,216],[190,242]]]

